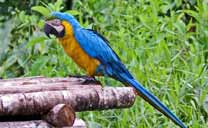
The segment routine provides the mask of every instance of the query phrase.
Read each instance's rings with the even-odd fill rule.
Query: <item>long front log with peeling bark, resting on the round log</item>
[[[76,112],[126,108],[132,106],[134,100],[131,87],[8,94],[0,97],[0,116],[43,115],[57,104],[70,105]]]

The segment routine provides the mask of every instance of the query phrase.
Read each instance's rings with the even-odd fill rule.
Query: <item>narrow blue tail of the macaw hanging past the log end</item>
[[[125,77],[125,81],[136,88],[139,95],[146,100],[149,104],[151,104],[153,107],[155,107],[157,110],[159,110],[161,113],[163,113],[165,116],[167,116],[169,119],[171,119],[175,124],[179,125],[181,128],[186,128],[186,126],[183,124],[183,122],[178,119],[176,115],[174,115],[165,105],[163,105],[158,98],[156,98],[153,94],[151,94],[149,91],[147,91],[139,82],[137,82],[135,79]]]

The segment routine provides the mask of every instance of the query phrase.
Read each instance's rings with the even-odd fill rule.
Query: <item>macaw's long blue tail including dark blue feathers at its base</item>
[[[163,105],[158,98],[156,98],[153,94],[147,91],[139,82],[137,82],[133,78],[130,72],[120,61],[105,65],[105,67],[101,69],[103,69],[101,70],[103,74],[107,74],[108,76],[111,76],[112,78],[119,80],[124,84],[133,86],[137,90],[139,95],[154,108],[159,110],[181,128],[186,128],[183,122],[176,115],[174,115],[165,105]]]

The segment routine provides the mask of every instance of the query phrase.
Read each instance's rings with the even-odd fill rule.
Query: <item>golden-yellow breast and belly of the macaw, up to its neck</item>
[[[65,30],[69,29],[71,26],[63,22],[65,26]],[[68,28],[67,28],[68,27]],[[68,31],[69,32],[69,31]],[[63,38],[60,38],[59,41],[61,42],[65,52],[81,67],[83,68],[89,76],[95,75],[96,68],[100,64],[100,62],[96,59],[91,58],[86,52],[80,47],[77,43],[76,39],[74,38],[73,34],[65,33]]]

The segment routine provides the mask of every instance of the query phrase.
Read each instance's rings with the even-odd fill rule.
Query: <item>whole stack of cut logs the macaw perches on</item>
[[[131,107],[131,87],[83,84],[83,78],[26,77],[0,80],[1,128],[86,128],[75,112]]]

